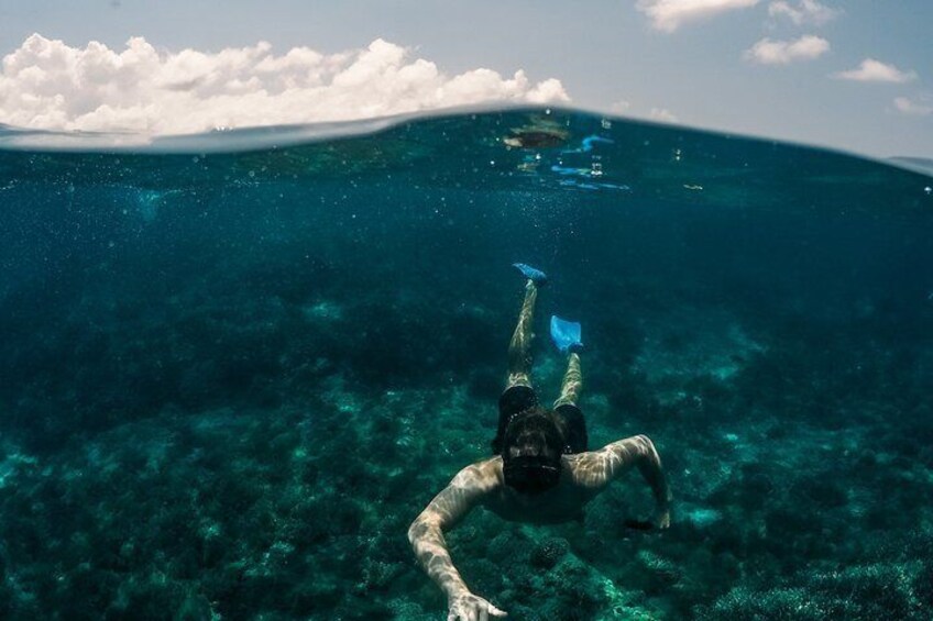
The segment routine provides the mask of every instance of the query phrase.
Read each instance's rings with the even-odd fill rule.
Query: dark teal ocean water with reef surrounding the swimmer
[[[933,177],[573,110],[0,143],[0,616],[444,619],[523,281],[583,324],[584,520],[447,541],[512,619],[933,616]],[[33,136],[34,137],[34,136]],[[40,136],[41,138],[42,136]],[[54,136],[53,136],[54,137]],[[67,142],[67,141],[66,141]],[[76,151],[77,149],[77,151]]]

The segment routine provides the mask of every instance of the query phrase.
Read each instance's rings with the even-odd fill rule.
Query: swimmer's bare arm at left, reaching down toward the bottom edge
[[[443,540],[443,531],[457,525],[498,485],[493,461],[473,464],[460,470],[408,528],[408,541],[418,563],[447,594],[448,621],[475,621],[486,619],[489,614],[505,617],[505,612],[470,592],[460,572],[453,566]]]

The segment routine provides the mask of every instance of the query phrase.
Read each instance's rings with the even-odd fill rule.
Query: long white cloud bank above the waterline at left
[[[33,34],[3,58],[0,123],[153,135],[350,121],[484,102],[566,102],[561,82],[478,68],[449,76],[383,40],[322,54],[268,43],[220,52],[70,47]]]

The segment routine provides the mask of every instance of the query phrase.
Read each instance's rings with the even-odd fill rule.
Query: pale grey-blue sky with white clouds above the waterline
[[[179,134],[485,102],[933,157],[930,0],[0,0],[0,123]]]

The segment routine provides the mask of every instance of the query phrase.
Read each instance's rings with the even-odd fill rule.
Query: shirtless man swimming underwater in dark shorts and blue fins
[[[567,373],[553,409],[538,404],[531,388],[531,317],[542,271],[516,264],[527,278],[525,302],[508,345],[508,384],[498,400],[495,457],[460,470],[408,529],[408,541],[428,576],[447,594],[448,621],[485,621],[506,613],[470,592],[450,559],[443,531],[471,509],[485,507],[505,520],[553,524],[577,520],[606,486],[638,466],[657,508],[650,526],[670,525],[671,495],[661,459],[646,435],[586,450],[586,425],[577,400],[583,385],[580,324],[551,318],[551,337],[568,356]]]

